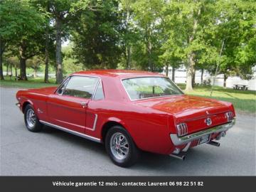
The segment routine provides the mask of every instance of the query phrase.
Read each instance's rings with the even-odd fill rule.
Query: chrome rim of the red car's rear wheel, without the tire
[[[116,159],[123,160],[129,154],[129,144],[124,134],[114,133],[110,139],[110,149]]]

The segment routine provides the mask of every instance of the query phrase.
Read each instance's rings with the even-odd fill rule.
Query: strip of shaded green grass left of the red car
[[[38,88],[38,87],[51,87],[58,86],[55,84],[55,79],[50,78],[49,83],[43,82],[43,78],[28,78],[28,80],[10,80],[9,77],[5,77],[5,80],[0,81],[1,87],[18,87],[18,88]]]

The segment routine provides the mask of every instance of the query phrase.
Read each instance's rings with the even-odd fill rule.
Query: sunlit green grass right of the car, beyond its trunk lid
[[[179,84],[182,90],[185,90],[185,84]],[[235,110],[238,112],[256,112],[256,91],[247,90],[233,90],[230,88],[214,87],[213,95],[210,97],[210,86],[197,86],[194,87],[193,91],[186,92],[188,95],[196,95],[201,97],[213,98],[216,100],[223,100],[232,102]]]

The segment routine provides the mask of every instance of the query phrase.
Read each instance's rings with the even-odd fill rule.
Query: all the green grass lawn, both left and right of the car
[[[0,81],[1,87],[36,88],[57,86],[54,78],[50,78],[50,83],[44,83],[43,78],[28,78],[28,81],[9,80],[9,77],[6,77],[5,79],[6,80]],[[186,87],[185,84],[178,84],[178,86],[181,87],[182,90]],[[214,87],[213,95],[210,97],[210,86],[197,86],[194,87],[192,92],[185,93],[188,95],[232,102],[235,110],[238,112],[250,112],[253,114],[256,112],[256,91],[240,91],[230,88],[224,89],[223,87]]]

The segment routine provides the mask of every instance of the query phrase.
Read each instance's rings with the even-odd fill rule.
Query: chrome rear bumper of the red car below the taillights
[[[181,144],[187,144],[189,142],[192,142],[193,140],[200,139],[201,137],[203,137],[206,134],[228,131],[228,129],[233,127],[234,124],[235,124],[235,119],[233,119],[232,122],[229,122],[227,124],[223,124],[223,125],[220,125],[217,127],[212,127],[210,129],[206,129],[201,132],[188,134],[184,137],[178,137],[177,134],[170,134],[171,142],[173,142],[173,144],[176,146],[181,145]]]

